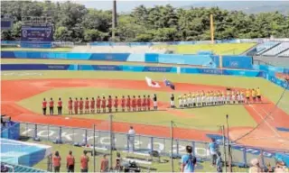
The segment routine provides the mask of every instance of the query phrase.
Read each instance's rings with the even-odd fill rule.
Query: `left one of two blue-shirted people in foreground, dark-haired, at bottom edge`
[[[197,159],[191,155],[191,146],[186,146],[186,151],[187,154],[183,155],[181,160],[181,172],[194,172]]]

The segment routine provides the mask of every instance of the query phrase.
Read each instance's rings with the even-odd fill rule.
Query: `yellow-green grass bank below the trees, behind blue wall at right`
[[[219,43],[194,45],[156,45],[154,48],[174,50],[180,54],[196,54],[200,50],[210,50],[217,55],[238,55],[250,49],[256,43]]]

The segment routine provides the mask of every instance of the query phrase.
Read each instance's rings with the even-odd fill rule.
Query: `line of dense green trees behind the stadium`
[[[98,2],[96,2],[98,3]],[[55,41],[111,41],[112,11],[87,8],[72,2],[3,1],[1,15],[14,17],[12,30],[2,40],[19,41],[24,16],[51,16]],[[182,9],[172,5],[140,5],[129,14],[117,14],[115,41],[210,40],[210,14],[215,39],[289,38],[289,16],[275,13],[245,14],[219,7]]]

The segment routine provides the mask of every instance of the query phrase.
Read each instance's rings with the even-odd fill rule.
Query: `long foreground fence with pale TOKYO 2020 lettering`
[[[111,120],[112,121],[112,120]],[[112,122],[111,122],[112,124]],[[103,124],[99,124],[102,125]],[[91,129],[73,128],[67,126],[55,126],[48,124],[35,124],[35,123],[20,123],[21,135],[31,138],[39,138],[43,141],[61,141],[70,144],[83,144],[93,146],[97,150],[110,150],[116,149],[124,152],[132,150],[131,136],[124,132],[111,132],[110,127],[107,125],[107,131],[98,130],[93,132]],[[168,128],[167,130],[169,130]],[[149,151],[157,150],[160,155],[179,158],[185,153],[185,146],[191,145],[193,154],[202,161],[210,161],[209,142],[207,141],[191,141],[184,139],[177,139],[173,133],[174,127],[172,126],[172,136],[158,137],[151,135],[135,134],[134,137],[134,154],[148,155]],[[188,130],[190,131],[190,130]],[[167,133],[170,131],[167,131]],[[137,133],[137,132],[136,132]],[[95,136],[94,136],[95,134]],[[218,134],[208,134],[208,137],[214,138],[219,143],[219,150],[222,156],[227,156],[228,159],[228,138]],[[223,145],[225,141],[225,146]],[[267,163],[275,164],[276,153],[289,153],[289,150],[268,150],[261,148],[254,148],[250,146],[243,146],[232,143],[231,145],[232,164],[238,167],[246,167],[248,161],[253,158],[259,158],[261,165],[266,166]]]

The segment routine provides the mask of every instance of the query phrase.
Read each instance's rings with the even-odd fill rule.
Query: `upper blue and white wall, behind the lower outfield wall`
[[[252,57],[247,56],[219,56],[210,54],[180,55],[180,54],[130,54],[130,53],[69,53],[69,52],[39,52],[39,51],[1,51],[5,59],[81,59],[107,60],[123,62],[171,63],[210,68],[252,68]]]

